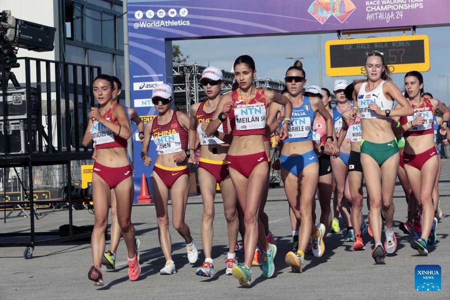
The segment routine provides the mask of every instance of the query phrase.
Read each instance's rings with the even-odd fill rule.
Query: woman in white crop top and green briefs
[[[357,99],[361,119],[361,165],[367,193],[370,197],[369,219],[375,246],[372,257],[376,263],[384,263],[387,253],[393,253],[397,241],[392,228],[394,204],[392,201],[398,170],[398,147],[391,128],[392,116],[411,115],[412,107],[400,90],[390,81],[390,70],[384,62],[383,53],[371,51],[365,55],[366,82],[354,85],[353,96]],[[393,99],[399,106],[393,107]],[[349,117],[356,115],[357,107]],[[381,243],[381,208],[384,211],[384,234]]]

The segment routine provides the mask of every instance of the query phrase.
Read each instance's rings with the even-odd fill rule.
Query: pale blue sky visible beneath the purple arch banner
[[[364,33],[351,35],[352,38],[369,36],[398,36],[403,32]],[[430,69],[422,72],[424,77],[424,89],[444,102],[450,103],[447,80],[450,80],[450,26],[417,28],[416,34],[425,34],[429,37]],[[411,35],[411,30],[406,32]],[[346,36],[342,36],[346,38]],[[321,75],[322,85],[332,90],[335,77],[328,77],[325,71],[324,45],[329,39],[337,39],[336,33],[320,34],[321,51]],[[184,54],[189,55],[188,62],[196,61],[200,65],[214,65],[220,69],[231,70],[233,61],[242,54],[253,57],[258,77],[268,77],[273,80],[282,80],[286,69],[293,64],[295,59],[285,57],[304,57],[300,59],[306,72],[306,85],[319,85],[319,47],[317,34],[307,35],[282,35],[282,36],[257,36],[236,37],[221,39],[193,39],[176,40]],[[361,57],[363,59],[363,57]],[[446,75],[449,77],[441,77]],[[393,82],[402,90],[403,73],[394,74]],[[342,77],[347,81],[361,76]]]

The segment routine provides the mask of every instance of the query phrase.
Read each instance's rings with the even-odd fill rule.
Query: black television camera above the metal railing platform
[[[16,54],[18,48],[36,52],[54,48],[55,27],[49,27],[15,18],[10,10],[0,13],[0,60],[6,69],[19,67]]]

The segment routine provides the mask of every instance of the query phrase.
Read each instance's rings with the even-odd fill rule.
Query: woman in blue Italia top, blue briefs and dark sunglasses
[[[284,191],[289,206],[300,221],[298,234],[298,247],[296,252],[289,251],[285,255],[285,262],[291,266],[292,271],[301,272],[304,252],[312,237],[312,253],[316,257],[323,255],[325,246],[323,236],[325,225],[312,223],[312,202],[318,182],[318,159],[314,153],[312,142],[312,124],[314,114],[320,113],[325,119],[327,130],[326,147],[337,152],[333,143],[332,118],[322,103],[321,89],[315,85],[307,87],[304,91],[305,72],[297,66],[290,66],[284,78],[287,87],[287,98],[292,103],[292,120],[288,137],[283,141],[280,155],[280,172],[283,179]],[[309,95],[309,96],[307,96]],[[275,120],[276,115],[285,107],[282,104],[272,104],[268,121]]]

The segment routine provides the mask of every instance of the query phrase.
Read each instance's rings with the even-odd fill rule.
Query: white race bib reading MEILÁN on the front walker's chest
[[[237,130],[260,129],[265,127],[264,103],[237,104],[234,108]]]

